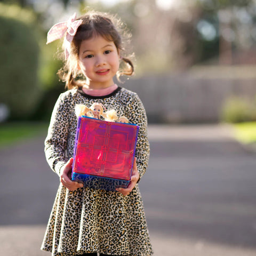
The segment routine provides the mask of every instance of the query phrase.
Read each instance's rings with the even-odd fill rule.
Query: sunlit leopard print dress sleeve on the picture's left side
[[[66,156],[69,127],[68,114],[68,98],[60,94],[52,112],[44,149],[47,163],[58,175],[60,175],[60,168],[68,161]]]

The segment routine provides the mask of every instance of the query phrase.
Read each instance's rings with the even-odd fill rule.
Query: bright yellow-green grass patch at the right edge
[[[234,124],[235,137],[244,144],[256,142],[256,122]]]

